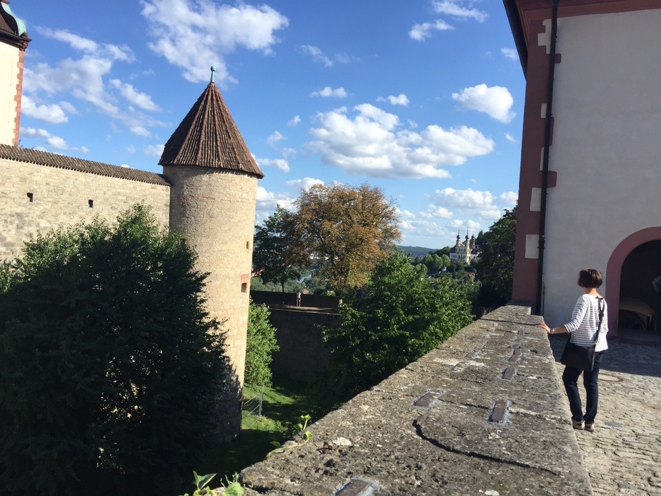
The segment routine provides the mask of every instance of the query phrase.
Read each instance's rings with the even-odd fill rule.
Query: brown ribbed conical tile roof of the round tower
[[[209,167],[264,177],[213,81],[165,143],[158,164]]]

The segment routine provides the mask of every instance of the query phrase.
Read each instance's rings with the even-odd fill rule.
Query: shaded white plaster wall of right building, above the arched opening
[[[549,166],[558,183],[548,193],[544,260],[552,325],[569,320],[580,269],[606,278],[623,239],[661,225],[660,26],[660,10],[558,21]]]

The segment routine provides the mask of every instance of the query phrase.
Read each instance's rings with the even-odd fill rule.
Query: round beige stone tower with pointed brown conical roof
[[[212,68],[213,71],[213,68]],[[241,396],[257,181],[264,177],[212,78],[165,144],[160,158],[171,183],[170,228],[198,253],[209,273],[207,307],[227,331],[233,390],[222,397],[220,436],[241,426]]]

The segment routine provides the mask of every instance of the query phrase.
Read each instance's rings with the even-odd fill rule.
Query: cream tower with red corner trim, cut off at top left
[[[0,0],[0,145],[19,144],[23,58],[30,41],[23,21]]]

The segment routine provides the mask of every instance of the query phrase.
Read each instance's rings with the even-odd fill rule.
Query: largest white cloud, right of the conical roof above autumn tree
[[[322,161],[350,174],[371,177],[448,178],[443,166],[461,165],[493,151],[494,142],[470,127],[444,130],[429,125],[421,132],[398,130],[399,118],[368,103],[321,113],[308,143]]]

